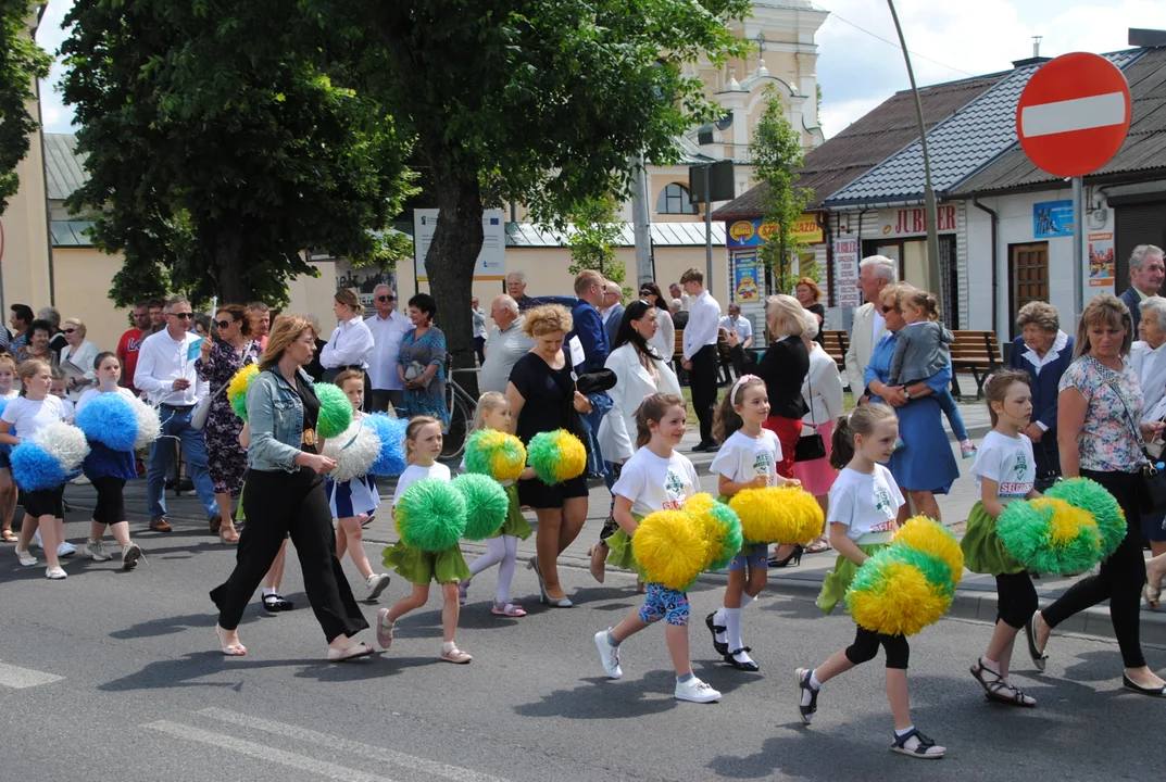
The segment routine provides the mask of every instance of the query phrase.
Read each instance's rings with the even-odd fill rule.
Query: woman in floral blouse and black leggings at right
[[[1146,579],[1142,556],[1142,501],[1145,492],[1142,441],[1161,434],[1161,423],[1142,422],[1143,396],[1128,355],[1133,324],[1130,310],[1116,296],[1102,294],[1086,305],[1077,323],[1073,364],[1061,378],[1056,411],[1061,472],[1066,478],[1091,478],[1112,494],[1125,512],[1125,537],[1101,564],[1096,576],[1082,578],[1038,611],[1026,626],[1028,653],[1045,669],[1045,649],[1054,627],[1073,614],[1109,600],[1114,636],[1122,651],[1122,684],[1135,692],[1166,696],[1142,655],[1139,598]],[[1138,427],[1140,431],[1137,431]]]

